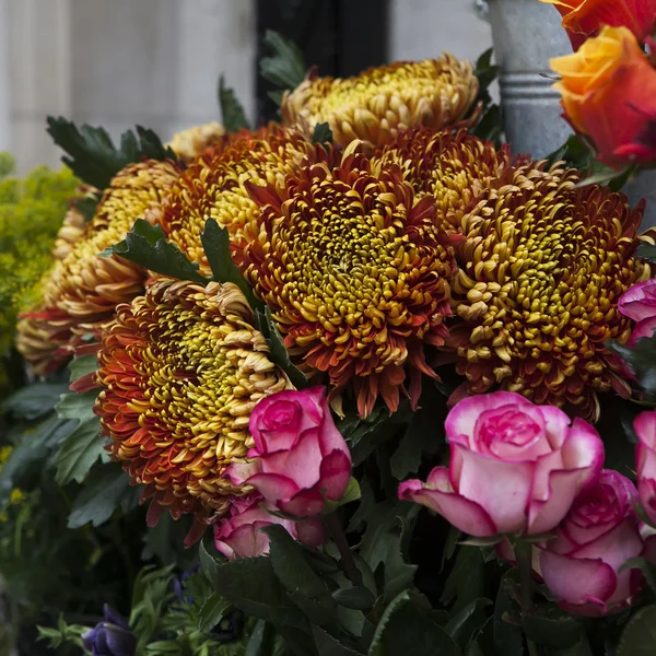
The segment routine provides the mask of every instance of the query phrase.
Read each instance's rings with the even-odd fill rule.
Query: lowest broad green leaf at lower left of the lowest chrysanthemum
[[[128,513],[139,503],[140,491],[118,464],[103,465],[75,497],[68,518],[69,528],[105,524],[115,511]]]

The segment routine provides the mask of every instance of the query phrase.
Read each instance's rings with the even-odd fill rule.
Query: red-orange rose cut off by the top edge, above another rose
[[[628,27],[644,42],[656,24],[656,0],[540,0],[555,5],[563,27],[577,50],[583,42],[597,35],[604,25]]]

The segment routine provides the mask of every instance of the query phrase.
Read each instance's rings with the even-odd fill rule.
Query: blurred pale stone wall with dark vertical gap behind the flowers
[[[491,45],[475,0],[0,0],[0,150],[19,173],[56,166],[49,114],[166,140],[220,119],[220,73],[253,122],[273,118],[257,72],[269,28],[341,77],[443,50],[476,60]]]

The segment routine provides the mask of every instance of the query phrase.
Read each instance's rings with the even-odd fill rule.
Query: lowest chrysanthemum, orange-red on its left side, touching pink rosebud
[[[251,491],[223,471],[254,444],[248,419],[256,403],[291,387],[253,320],[234,284],[161,279],[119,306],[104,332],[96,413],[115,457],[145,484],[143,499],[174,518],[211,519],[231,496]]]

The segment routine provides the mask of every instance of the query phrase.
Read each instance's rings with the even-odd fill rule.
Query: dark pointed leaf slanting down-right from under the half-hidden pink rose
[[[305,560],[305,553],[292,536],[279,524],[261,529],[269,536],[269,558],[276,576],[289,593],[297,593],[308,599],[329,600],[330,595],[323,581]]]

